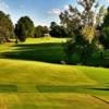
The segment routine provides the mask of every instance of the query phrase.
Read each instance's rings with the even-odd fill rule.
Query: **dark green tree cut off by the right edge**
[[[107,14],[101,25],[100,41],[106,49],[109,49],[109,8],[107,9]]]

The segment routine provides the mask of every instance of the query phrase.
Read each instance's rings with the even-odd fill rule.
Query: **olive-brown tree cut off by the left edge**
[[[14,28],[10,15],[0,11],[0,41],[9,41],[9,38],[14,37]]]

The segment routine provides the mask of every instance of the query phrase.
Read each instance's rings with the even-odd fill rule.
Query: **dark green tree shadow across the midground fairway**
[[[12,51],[2,52],[2,58],[61,63],[65,55],[60,43],[15,45]]]

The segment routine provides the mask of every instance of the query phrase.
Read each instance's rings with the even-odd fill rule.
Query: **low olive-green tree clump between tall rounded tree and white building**
[[[44,37],[45,34],[49,33],[49,28],[47,26],[38,25],[35,27],[35,38]]]

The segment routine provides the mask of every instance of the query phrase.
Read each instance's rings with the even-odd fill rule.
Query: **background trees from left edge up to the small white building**
[[[49,32],[47,26],[36,26],[29,16],[22,16],[13,25],[10,15],[0,11],[0,43],[10,41],[11,38],[16,41],[25,41],[27,37],[44,37]]]

